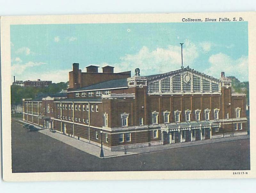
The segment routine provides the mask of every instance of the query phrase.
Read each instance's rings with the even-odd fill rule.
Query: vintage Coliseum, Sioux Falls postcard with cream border
[[[4,180],[255,177],[254,33],[254,12],[1,17]]]

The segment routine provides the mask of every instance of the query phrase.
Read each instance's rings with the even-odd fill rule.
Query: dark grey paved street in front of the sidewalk
[[[13,172],[247,169],[249,139],[100,159],[12,122]]]

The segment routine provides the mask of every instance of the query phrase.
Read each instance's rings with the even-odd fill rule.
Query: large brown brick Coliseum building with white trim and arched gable
[[[247,134],[246,95],[223,72],[86,69],[73,64],[67,96],[23,99],[23,120],[110,150]]]

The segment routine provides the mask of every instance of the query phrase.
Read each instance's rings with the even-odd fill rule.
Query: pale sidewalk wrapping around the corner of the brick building
[[[27,123],[27,122],[21,121],[21,120],[20,120],[20,122]],[[49,129],[41,128],[38,132],[40,132],[44,135],[48,135],[49,137],[57,139],[63,143],[66,143],[76,149],[79,149],[81,151],[89,153],[93,156],[96,156],[98,158],[100,157],[100,147],[99,146],[93,145],[91,143],[86,143],[86,142],[80,141],[78,139],[69,137],[67,135],[62,135],[57,132],[52,133],[52,132],[50,132]],[[249,139],[249,138],[250,138],[249,135],[239,135],[239,136],[224,137],[224,138],[217,138],[217,139],[198,140],[198,141],[193,141],[193,142],[173,143],[173,144],[166,144],[166,145],[154,145],[154,146],[148,146],[148,147],[142,147],[142,148],[128,149],[127,154],[124,154],[124,150],[120,150],[120,151],[110,151],[110,150],[106,150],[106,149],[103,149],[103,150],[104,150],[104,158],[113,158],[113,157],[120,157],[120,156],[135,155],[135,154],[140,154],[140,153],[164,151],[164,150],[189,147],[189,146],[195,146],[195,145],[219,143],[219,142],[234,141],[234,140]]]

